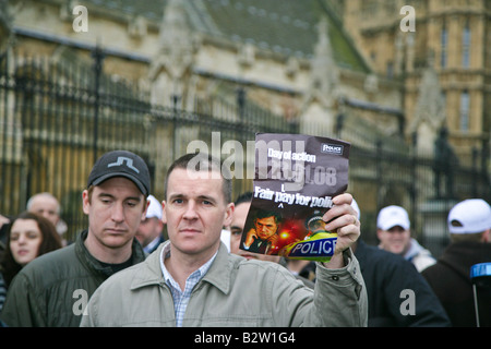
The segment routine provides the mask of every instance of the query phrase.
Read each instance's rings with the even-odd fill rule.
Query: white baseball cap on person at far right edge
[[[456,204],[448,213],[451,233],[475,233],[491,228],[491,207],[482,198],[468,198]]]

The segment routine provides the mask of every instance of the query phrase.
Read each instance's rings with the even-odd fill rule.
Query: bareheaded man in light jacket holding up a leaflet
[[[197,167],[196,167],[197,165]],[[351,195],[333,197],[323,218],[337,230],[336,251],[316,265],[315,291],[283,266],[228,252],[231,174],[219,159],[187,154],[168,169],[163,220],[169,239],[143,263],[107,279],[81,326],[286,327],[363,326],[368,305],[349,246],[359,221]]]

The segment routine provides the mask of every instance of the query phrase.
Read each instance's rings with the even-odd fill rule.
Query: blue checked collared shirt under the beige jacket
[[[208,272],[213,261],[215,261],[217,253],[218,251],[215,252],[215,254],[208,260],[208,262],[203,264],[199,269],[188,276],[188,278],[185,279],[184,290],[182,291],[179,284],[172,278],[164,264],[164,260],[170,256],[170,243],[167,244],[165,249],[161,249],[160,268],[164,275],[164,279],[166,280],[167,286],[169,286],[170,291],[172,292],[173,312],[176,314],[177,327],[182,327],[182,321],[184,320],[185,308],[188,306],[189,300],[191,298],[191,292],[194,286],[196,286],[201,278],[205,276],[206,272]]]

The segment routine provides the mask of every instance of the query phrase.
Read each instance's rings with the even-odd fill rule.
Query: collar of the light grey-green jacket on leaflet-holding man
[[[161,250],[165,249],[169,243],[170,241],[161,243],[155,252],[148,255],[145,263],[143,264],[145,268],[142,270],[142,273],[137,273],[133,278],[130,286],[131,290],[148,285],[165,285],[159,258]],[[229,261],[228,250],[224,243],[220,243],[215,261],[213,262],[206,275],[200,281],[200,284],[212,284],[221,292],[228,293],[228,291],[230,290],[231,268],[232,262]]]

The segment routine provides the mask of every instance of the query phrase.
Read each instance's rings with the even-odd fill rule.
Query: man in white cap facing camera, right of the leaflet
[[[380,210],[376,218],[379,248],[399,254],[422,272],[436,261],[430,251],[411,238],[409,216],[400,206],[391,205]]]

